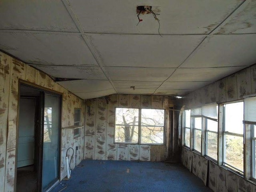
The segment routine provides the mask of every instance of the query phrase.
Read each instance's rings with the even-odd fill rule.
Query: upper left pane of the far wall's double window
[[[139,110],[132,108],[116,108],[116,124],[137,125]]]

